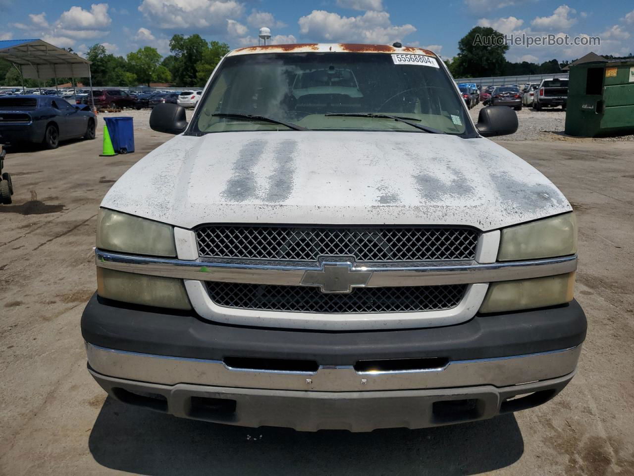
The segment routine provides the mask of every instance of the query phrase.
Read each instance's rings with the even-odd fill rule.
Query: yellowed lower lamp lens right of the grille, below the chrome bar
[[[574,272],[519,281],[492,282],[480,312],[509,312],[573,300]]]

